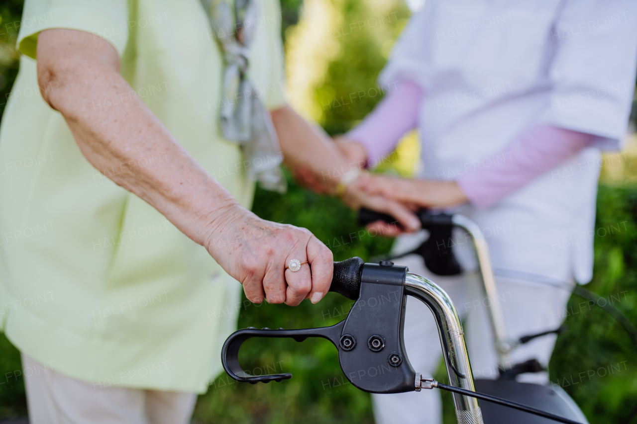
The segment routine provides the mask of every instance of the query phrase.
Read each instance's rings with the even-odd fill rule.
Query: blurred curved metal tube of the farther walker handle
[[[493,269],[491,267],[489,246],[487,246],[487,241],[482,235],[480,227],[466,216],[455,214],[452,216],[452,222],[456,227],[461,227],[466,230],[473,239],[485,295],[487,295],[487,299],[489,299],[489,320],[493,330],[494,343],[496,344],[498,365],[503,369],[508,369],[511,367],[508,352],[513,347],[513,344],[508,337],[506,337],[505,314],[497,300],[496,279],[493,276]]]

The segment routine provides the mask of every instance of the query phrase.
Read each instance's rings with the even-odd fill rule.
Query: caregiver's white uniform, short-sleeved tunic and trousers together
[[[587,283],[592,277],[598,148],[617,149],[626,134],[636,54],[634,0],[427,0],[381,75],[383,85],[410,79],[424,89],[420,178],[455,180],[506,160],[506,154],[494,155],[538,124],[598,136],[594,147],[492,208],[461,211],[483,230],[501,270],[496,277],[509,337],[552,329],[564,318],[568,291],[533,280]],[[400,239],[397,250],[406,250],[413,237]],[[476,378],[495,378],[497,360],[478,279],[470,272],[469,243],[462,234],[454,243],[469,271],[464,276],[431,276],[413,256],[397,263],[430,275],[450,293],[467,320]],[[426,307],[408,303],[406,349],[415,371],[430,376],[440,363],[438,334]],[[537,358],[546,366],[554,341],[536,339],[512,359]],[[440,423],[438,396],[427,390],[375,395],[376,419]]]

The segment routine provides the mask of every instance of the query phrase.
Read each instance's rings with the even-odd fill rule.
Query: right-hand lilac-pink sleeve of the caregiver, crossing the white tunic
[[[504,161],[465,174],[457,183],[476,208],[489,208],[569,159],[594,138],[592,134],[538,125],[497,153]]]

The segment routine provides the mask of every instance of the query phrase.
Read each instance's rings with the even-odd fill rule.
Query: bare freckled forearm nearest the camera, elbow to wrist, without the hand
[[[47,49],[64,47],[59,39],[48,38],[47,32],[38,40],[38,79],[41,87],[47,87],[43,97],[62,114],[83,155],[117,185],[147,201],[187,236],[204,244],[216,225],[214,218],[224,208],[236,206],[236,201],[134,95],[117,72],[114,50],[115,58],[106,55],[89,62],[83,55],[51,55]],[[65,41],[66,48],[79,48],[73,36]],[[47,60],[50,56],[53,59]],[[114,99],[118,106],[95,106]],[[152,157],[168,160],[136,166]]]

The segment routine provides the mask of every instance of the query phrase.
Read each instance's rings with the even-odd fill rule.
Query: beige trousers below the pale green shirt
[[[31,424],[186,424],[196,393],[96,389],[22,355]]]

